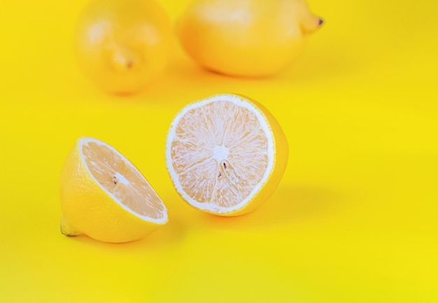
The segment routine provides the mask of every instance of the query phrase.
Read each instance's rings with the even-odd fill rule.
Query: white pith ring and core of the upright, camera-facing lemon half
[[[245,199],[243,199],[240,203],[235,204],[234,206],[227,206],[227,207],[218,206],[215,202],[198,202],[196,199],[190,197],[190,195],[188,195],[188,193],[185,192],[183,186],[179,181],[178,173],[174,169],[172,155],[171,155],[172,143],[176,139],[176,128],[178,127],[178,123],[180,122],[181,118],[183,118],[183,116],[186,113],[192,111],[192,109],[194,108],[199,108],[216,101],[229,101],[232,102],[232,104],[234,104],[235,106],[248,109],[248,111],[252,112],[256,116],[258,122],[260,123],[260,128],[262,129],[262,131],[267,137],[267,150],[266,150],[267,169],[264,171],[262,179],[260,180],[260,182],[257,183],[257,185],[255,185],[252,188],[249,195]],[[229,150],[225,146],[216,146],[213,148],[213,156],[211,157],[211,159],[214,159],[217,162],[222,162],[222,160],[225,160],[225,163],[227,163],[226,160],[228,153]],[[219,94],[186,106],[185,108],[183,108],[183,110],[180,113],[178,113],[178,115],[176,115],[176,118],[174,118],[174,121],[172,122],[171,127],[169,129],[169,133],[167,135],[166,164],[167,164],[167,170],[169,171],[169,175],[171,176],[171,180],[173,181],[177,192],[183,197],[183,199],[185,199],[192,206],[195,206],[195,208],[204,211],[210,211],[213,213],[232,213],[233,211],[238,211],[239,209],[245,207],[248,204],[248,202],[250,202],[250,200],[253,199],[255,195],[257,195],[257,192],[259,192],[263,188],[264,184],[267,183],[269,176],[271,175],[271,172],[274,169],[274,161],[275,161],[274,135],[272,133],[271,127],[269,125],[266,116],[255,105],[253,105],[249,101],[246,101],[242,97],[236,96],[234,94]]]

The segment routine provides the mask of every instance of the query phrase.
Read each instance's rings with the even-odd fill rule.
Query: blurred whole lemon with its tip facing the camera
[[[94,0],[76,26],[76,58],[102,90],[136,92],[164,71],[171,38],[171,21],[153,0]]]

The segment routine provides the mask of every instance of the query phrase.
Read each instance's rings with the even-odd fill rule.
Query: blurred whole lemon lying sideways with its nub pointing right
[[[198,0],[176,30],[183,49],[206,69],[257,77],[285,69],[321,24],[304,0]]]

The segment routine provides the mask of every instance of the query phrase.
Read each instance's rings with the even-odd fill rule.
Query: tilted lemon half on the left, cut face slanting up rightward
[[[146,178],[108,144],[80,138],[60,179],[61,232],[106,242],[144,237],[167,223],[167,209]]]

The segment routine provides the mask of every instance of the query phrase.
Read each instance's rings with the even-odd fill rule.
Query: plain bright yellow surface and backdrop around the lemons
[[[438,302],[436,1],[313,0],[326,24],[280,76],[218,76],[176,48],[124,98],[73,61],[84,3],[1,3],[0,302]],[[160,3],[174,19],[188,0]],[[280,188],[240,218],[190,209],[164,165],[176,111],[218,92],[261,101],[290,142]],[[122,245],[64,237],[78,136],[132,160],[169,225]]]

